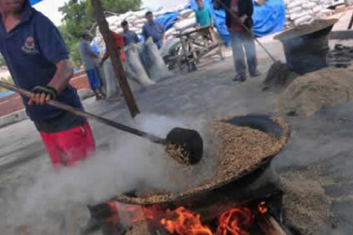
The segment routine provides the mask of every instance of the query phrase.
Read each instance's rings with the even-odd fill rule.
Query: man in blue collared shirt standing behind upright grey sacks
[[[152,38],[153,42],[160,49],[163,46],[164,33],[166,32],[163,25],[153,19],[153,13],[148,11],[145,14],[147,23],[142,27],[142,35],[147,39]]]

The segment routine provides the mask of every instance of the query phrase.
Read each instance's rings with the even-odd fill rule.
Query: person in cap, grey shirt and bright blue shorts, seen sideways
[[[88,77],[90,87],[94,92],[96,99],[99,100],[103,99],[104,95],[101,90],[102,82],[99,76],[98,65],[96,62],[98,55],[94,53],[90,44],[92,39],[93,35],[91,32],[89,30],[84,30],[78,43],[78,50],[81,56],[83,67]]]

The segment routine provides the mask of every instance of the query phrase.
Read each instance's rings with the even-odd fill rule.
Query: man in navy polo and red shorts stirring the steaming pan
[[[0,0],[0,52],[17,86],[31,90],[22,97],[26,112],[46,145],[54,168],[72,166],[94,151],[85,118],[46,105],[50,99],[83,109],[68,84],[72,67],[58,29],[28,0]]]

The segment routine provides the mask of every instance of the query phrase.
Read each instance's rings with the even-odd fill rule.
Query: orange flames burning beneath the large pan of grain
[[[119,223],[131,226],[135,222],[147,219],[151,224],[157,223],[170,234],[177,235],[249,235],[249,228],[256,215],[268,212],[266,202],[259,203],[257,210],[247,207],[228,209],[219,215],[217,228],[213,232],[207,224],[203,223],[200,214],[184,207],[162,211],[155,206],[141,208],[137,205],[124,205],[117,202],[108,202],[108,205],[113,206],[116,212],[116,215],[110,218],[111,220],[118,219]]]

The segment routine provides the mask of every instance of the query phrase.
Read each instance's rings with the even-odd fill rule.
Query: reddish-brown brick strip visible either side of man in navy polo
[[[74,74],[70,80],[70,84],[77,90],[89,89],[89,83],[85,72]],[[24,109],[22,99],[18,94],[12,94],[7,97],[0,98],[0,117],[10,113]]]

